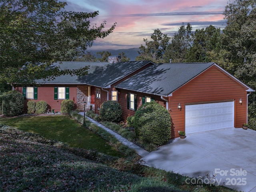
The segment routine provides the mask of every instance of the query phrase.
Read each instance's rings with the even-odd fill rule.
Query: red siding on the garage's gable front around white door
[[[242,98],[242,105],[239,99]],[[174,135],[185,131],[185,108],[189,104],[225,102],[234,100],[234,127],[240,128],[246,122],[246,88],[226,76],[220,69],[212,66],[169,97],[170,114],[173,121]],[[182,110],[178,110],[180,103]]]

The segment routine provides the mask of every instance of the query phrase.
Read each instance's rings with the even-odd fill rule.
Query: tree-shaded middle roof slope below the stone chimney
[[[93,73],[79,77],[78,80],[88,85],[109,88],[111,84],[118,82],[150,63],[154,64],[151,61],[129,61],[108,64],[104,66],[104,69],[96,68]]]

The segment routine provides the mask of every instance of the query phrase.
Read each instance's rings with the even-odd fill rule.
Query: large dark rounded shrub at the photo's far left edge
[[[24,96],[18,91],[9,91],[1,96],[2,113],[6,116],[20,115],[24,111]]]

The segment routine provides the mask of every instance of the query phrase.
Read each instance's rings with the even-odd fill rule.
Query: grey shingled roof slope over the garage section
[[[115,87],[168,96],[212,65],[214,65],[214,62],[154,64],[124,80]]]

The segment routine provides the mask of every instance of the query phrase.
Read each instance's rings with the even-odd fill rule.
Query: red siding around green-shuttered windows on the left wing
[[[34,100],[35,102],[44,100],[48,104],[49,109],[54,109],[54,112],[59,112],[61,108],[61,102],[62,99],[54,100],[54,87],[58,87],[59,85],[42,85],[38,86],[38,99]],[[69,87],[69,99],[74,101],[75,107],[76,107],[76,85],[61,85],[59,87]],[[22,87],[16,87],[15,90],[18,90],[19,92],[22,93]],[[25,112],[27,109],[26,102],[28,100],[25,100]]]

